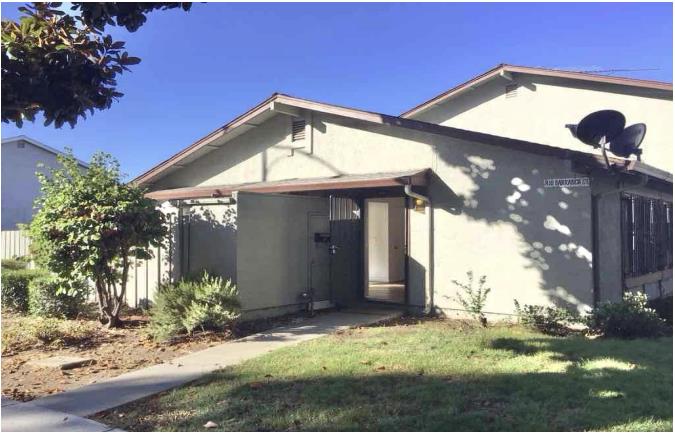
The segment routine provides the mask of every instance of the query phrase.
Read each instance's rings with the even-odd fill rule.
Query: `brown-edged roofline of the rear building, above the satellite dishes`
[[[572,72],[572,71],[562,71],[558,69],[547,69],[547,68],[535,68],[531,66],[516,66],[516,65],[507,65],[502,63],[496,67],[490,69],[487,72],[484,72],[476,77],[473,77],[469,81],[466,81],[458,86],[453,87],[452,89],[441,93],[438,96],[435,96],[428,101],[425,101],[410,110],[401,114],[401,117],[410,117],[418,114],[422,111],[425,111],[434,105],[441,104],[461,93],[464,93],[467,90],[474,88],[486,81],[492,80],[497,77],[509,77],[510,74],[528,74],[528,75],[538,75],[542,77],[554,77],[561,79],[569,80],[579,80],[586,82],[595,82],[595,83],[604,83],[604,84],[614,84],[619,86],[629,86],[637,87],[643,89],[652,89],[657,91],[670,92],[672,98],[673,84],[665,83],[662,81],[653,81],[653,80],[640,80],[636,78],[626,78],[626,77],[613,77],[609,75],[599,75],[592,74],[588,72]]]

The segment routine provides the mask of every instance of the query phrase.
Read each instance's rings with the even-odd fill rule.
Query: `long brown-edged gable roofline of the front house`
[[[200,158],[223,145],[229,140],[242,133],[249,131],[270,117],[281,113],[291,116],[301,116],[304,111],[314,111],[348,119],[359,120],[362,122],[382,125],[394,128],[405,128],[418,132],[443,135],[460,140],[479,142],[494,146],[507,147],[514,150],[520,150],[529,153],[536,153],[558,158],[585,161],[597,164],[602,159],[601,156],[592,153],[573,151],[560,147],[549,146],[540,143],[533,143],[524,140],[501,137],[497,135],[485,134],[482,132],[469,131],[466,129],[442,126],[434,123],[422,122],[419,120],[406,119],[403,117],[390,116],[387,114],[375,113],[371,111],[358,110],[354,108],[342,107],[339,105],[326,104],[323,102],[311,101],[308,99],[296,98],[281,93],[274,93],[260,104],[246,111],[244,114],[236,117],[222,127],[216,129],[205,137],[192,143],[185,149],[152,167],[145,173],[136,177],[132,182],[137,184],[152,184],[153,181],[166,176],[176,169],[184,167],[186,164]],[[612,158],[613,161],[625,163],[622,158]],[[627,167],[631,171],[644,172],[650,176],[672,183],[672,175],[663,170],[648,166],[639,161],[630,161]]]

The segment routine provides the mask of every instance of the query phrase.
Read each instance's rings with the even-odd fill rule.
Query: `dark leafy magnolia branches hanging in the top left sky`
[[[9,7],[9,6],[8,6]],[[105,110],[123,96],[117,79],[141,59],[104,31],[130,32],[155,10],[190,3],[33,2],[18,21],[2,18],[2,121],[18,127],[41,114],[45,126],[74,127],[87,113]],[[117,32],[119,33],[119,32]]]

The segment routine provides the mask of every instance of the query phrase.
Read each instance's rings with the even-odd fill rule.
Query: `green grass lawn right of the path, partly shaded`
[[[348,331],[101,417],[132,430],[672,431],[672,339],[427,321]]]

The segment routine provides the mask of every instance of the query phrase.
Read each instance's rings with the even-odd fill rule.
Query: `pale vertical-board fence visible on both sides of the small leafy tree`
[[[30,239],[21,230],[2,230],[1,242],[2,259],[28,254]],[[153,248],[152,252],[152,259],[135,260],[129,270],[126,302],[130,307],[144,306],[146,301],[152,301],[158,284],[172,276],[171,246]]]

